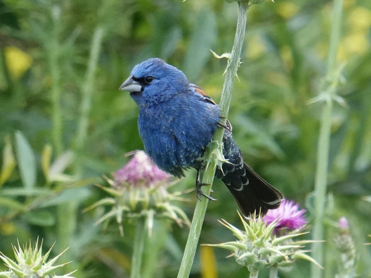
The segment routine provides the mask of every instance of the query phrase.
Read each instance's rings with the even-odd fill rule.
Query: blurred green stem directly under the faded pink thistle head
[[[135,229],[134,248],[131,259],[130,278],[141,278],[142,257],[144,249],[144,241],[148,230],[144,228],[144,220],[138,219],[137,227]]]

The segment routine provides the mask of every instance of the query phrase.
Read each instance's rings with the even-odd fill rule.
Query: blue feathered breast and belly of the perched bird
[[[203,156],[219,119],[219,106],[188,91],[155,106],[139,107],[138,128],[154,162],[182,176],[183,169],[199,165],[195,160]]]

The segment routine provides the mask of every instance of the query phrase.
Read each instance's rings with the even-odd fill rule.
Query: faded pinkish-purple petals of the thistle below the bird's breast
[[[114,174],[115,184],[128,183],[131,186],[153,187],[161,181],[166,181],[170,174],[160,170],[142,150],[134,150],[126,156],[133,157]]]

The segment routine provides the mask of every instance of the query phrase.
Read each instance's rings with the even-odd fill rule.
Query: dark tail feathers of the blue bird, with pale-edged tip
[[[227,171],[221,180],[227,185],[242,213],[247,217],[254,212],[259,214],[259,211],[261,215],[265,215],[268,209],[278,208],[283,201],[282,193],[262,179],[245,162],[243,168]]]

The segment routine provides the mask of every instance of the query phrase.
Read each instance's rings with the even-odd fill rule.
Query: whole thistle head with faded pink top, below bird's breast
[[[102,199],[86,208],[108,205],[111,210],[103,215],[96,224],[116,218],[120,234],[123,236],[122,219],[146,218],[148,234],[151,235],[154,217],[167,218],[190,225],[187,215],[174,201],[187,201],[181,198],[183,192],[170,193],[167,189],[174,185],[170,175],[161,171],[141,150],[128,153],[132,155],[129,162],[116,173],[114,179],[105,177],[109,186],[101,186],[112,197]]]

